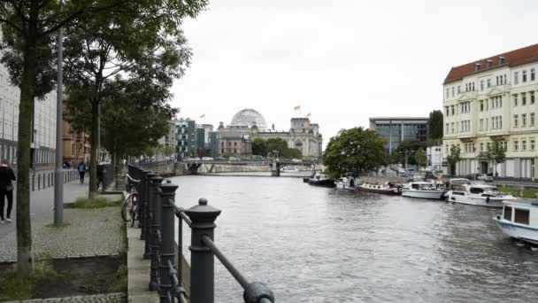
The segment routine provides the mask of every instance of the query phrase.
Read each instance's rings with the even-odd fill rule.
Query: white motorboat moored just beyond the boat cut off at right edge
[[[465,179],[467,180],[467,179]],[[471,183],[469,180],[461,185],[451,184],[445,196],[450,202],[473,206],[503,207],[504,201],[516,198],[510,194],[497,191],[496,185]]]

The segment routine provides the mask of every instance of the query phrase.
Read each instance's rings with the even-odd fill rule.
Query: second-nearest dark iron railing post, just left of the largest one
[[[168,202],[168,200],[174,200],[175,198],[175,190],[177,190],[178,186],[173,183],[165,183],[159,186],[161,189],[160,195],[161,195],[161,207],[162,207],[162,214],[161,214],[161,232],[162,232],[162,243],[161,243],[161,261],[158,265],[158,276],[160,278],[160,285],[159,285],[159,297],[161,298],[161,303],[173,303],[174,299],[173,296],[170,296],[172,298],[172,301],[168,300],[168,293],[172,294],[172,280],[170,279],[170,275],[168,274],[168,261],[172,263],[172,266],[174,265],[174,259],[175,259],[175,249],[174,249],[174,226],[173,222],[175,219],[174,215],[174,207]],[[178,245],[181,245],[178,244]],[[178,271],[178,276],[181,276],[181,272]]]

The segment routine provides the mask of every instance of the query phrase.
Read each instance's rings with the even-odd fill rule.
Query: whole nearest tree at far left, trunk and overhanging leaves
[[[17,147],[17,273],[29,276],[32,257],[30,220],[30,140],[35,98],[42,98],[56,80],[54,35],[76,19],[113,10],[125,0],[1,1],[0,28],[3,49],[0,63],[10,72],[10,82],[19,87],[19,133]],[[61,151],[57,151],[61,152]]]

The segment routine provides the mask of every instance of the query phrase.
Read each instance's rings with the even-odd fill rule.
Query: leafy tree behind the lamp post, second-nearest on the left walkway
[[[107,93],[114,91],[109,89],[115,83],[112,79],[121,74],[121,82],[142,80],[167,90],[184,73],[191,56],[181,19],[196,17],[205,4],[204,0],[188,4],[181,0],[129,1],[121,12],[103,12],[67,28],[65,85],[69,94],[84,97],[91,106],[90,170],[96,169],[100,107]],[[92,174],[89,198],[96,197],[95,184]]]

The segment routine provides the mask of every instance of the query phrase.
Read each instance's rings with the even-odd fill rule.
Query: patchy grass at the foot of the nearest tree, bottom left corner
[[[15,268],[9,269],[0,277],[0,301],[32,299],[38,284],[63,278],[47,260],[36,261],[34,272],[24,279],[17,276]]]

